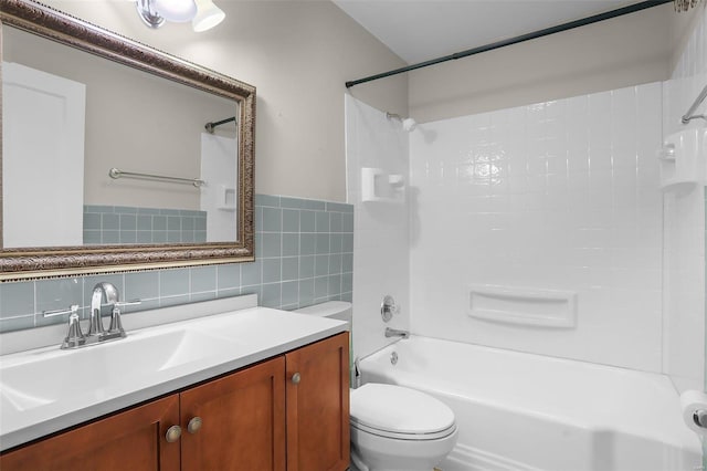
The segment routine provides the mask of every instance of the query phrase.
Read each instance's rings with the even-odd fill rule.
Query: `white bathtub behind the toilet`
[[[663,375],[414,335],[363,358],[360,371],[454,410],[458,442],[444,471],[701,469],[700,442]]]

